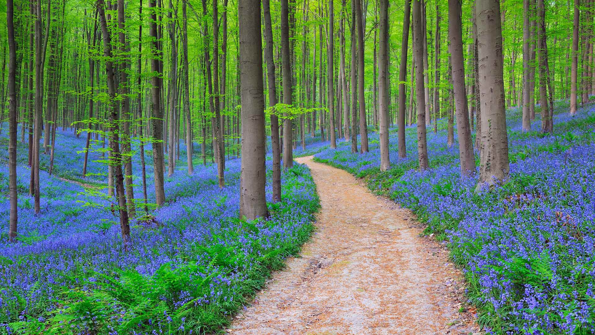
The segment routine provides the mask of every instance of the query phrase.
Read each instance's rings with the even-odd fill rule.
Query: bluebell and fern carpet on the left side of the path
[[[82,175],[86,134],[58,131],[54,175],[41,154],[41,212],[29,196],[27,145],[18,144],[18,242],[8,243],[7,134],[0,136],[0,334],[204,334],[221,330],[270,271],[295,255],[314,229],[319,199],[304,165],[283,172],[280,203],[270,217],[238,218],[240,161],[226,163],[226,186],[216,167],[177,162],[165,178],[166,204],[137,207],[129,250],[121,244],[110,203],[84,194],[107,182],[101,153],[90,153]],[[20,138],[20,137],[19,137]],[[101,147],[101,143],[97,144]],[[133,145],[134,188],[140,158]],[[151,146],[146,145],[149,202],[154,200]],[[182,144],[180,156],[186,158]],[[202,162],[197,156],[196,162]],[[267,162],[267,176],[271,176]],[[268,179],[270,181],[270,179]],[[101,192],[105,192],[105,189]],[[271,185],[267,184],[271,200]],[[85,206],[87,204],[87,206]],[[88,206],[94,204],[93,206]]]

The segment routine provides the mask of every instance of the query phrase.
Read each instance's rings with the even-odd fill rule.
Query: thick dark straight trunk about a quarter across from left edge
[[[153,147],[153,162],[155,175],[155,203],[161,206],[165,202],[165,190],[163,181],[163,144],[160,141],[163,138],[163,113],[161,109],[161,66],[159,66],[159,57],[161,57],[161,50],[159,49],[159,40],[157,38],[157,11],[156,0],[149,0],[149,8],[151,8],[151,24],[149,26],[149,35],[153,38],[152,41],[152,58],[151,71],[154,76],[151,79],[152,85],[152,106],[151,106],[151,125],[153,138],[156,140],[152,142]]]

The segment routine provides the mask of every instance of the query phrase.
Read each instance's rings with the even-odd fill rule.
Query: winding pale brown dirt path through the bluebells
[[[287,260],[228,333],[469,334],[460,272],[415,216],[369,193],[349,173],[296,159],[312,170],[322,209],[301,258]],[[462,304],[461,304],[462,303]]]

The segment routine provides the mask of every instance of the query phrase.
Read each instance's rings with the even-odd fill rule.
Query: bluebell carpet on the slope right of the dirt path
[[[521,132],[521,111],[507,111],[511,176],[493,190],[476,192],[477,176],[461,178],[456,129],[449,148],[446,120],[436,134],[428,129],[424,172],[417,170],[415,125],[406,129],[404,159],[391,130],[387,172],[379,169],[377,134],[367,154],[352,154],[343,142],[315,159],[367,178],[448,243],[480,309],[478,322],[491,333],[595,334],[595,106],[575,117],[568,109],[567,101],[556,102],[548,135],[538,131],[538,118]]]

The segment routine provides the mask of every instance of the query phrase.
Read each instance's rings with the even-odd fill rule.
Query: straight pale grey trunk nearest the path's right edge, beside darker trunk
[[[390,169],[389,153],[389,0],[380,0],[380,52],[378,92],[380,93],[380,170]]]

